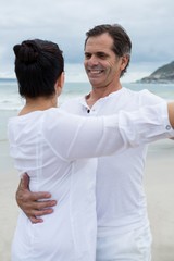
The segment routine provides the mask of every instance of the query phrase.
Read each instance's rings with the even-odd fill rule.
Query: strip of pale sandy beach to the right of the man
[[[174,261],[174,140],[150,146],[145,186],[153,236],[152,261]]]

